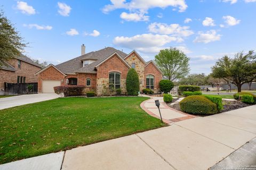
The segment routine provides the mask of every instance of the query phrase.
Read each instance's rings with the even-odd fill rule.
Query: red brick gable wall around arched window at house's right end
[[[154,75],[155,77],[155,82],[154,82],[154,92],[155,93],[159,93],[160,89],[159,89],[159,82],[162,80],[162,73],[159,72],[159,70],[157,69],[157,67],[150,62],[146,67],[145,67],[145,82],[146,82],[146,77],[147,75]],[[146,84],[145,84],[146,87]]]

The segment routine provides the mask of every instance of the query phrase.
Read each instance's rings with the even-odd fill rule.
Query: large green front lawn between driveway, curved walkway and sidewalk
[[[0,164],[160,128],[145,97],[58,98],[0,111]]]

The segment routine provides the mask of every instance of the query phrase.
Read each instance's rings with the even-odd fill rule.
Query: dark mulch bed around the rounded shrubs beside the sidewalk
[[[173,99],[172,103],[175,103],[176,100],[178,100],[178,98]],[[176,109],[177,111],[181,111],[179,103],[174,104],[174,105],[171,106],[172,103],[167,103],[167,105],[171,108]],[[238,109],[238,108],[251,106],[249,104],[245,104],[245,103],[242,103],[242,101],[237,101],[237,100],[235,100],[235,101],[228,101],[228,100],[225,101],[224,100],[224,101],[222,101],[222,103],[223,103],[223,109],[222,109],[222,111],[220,111],[220,113],[233,111],[233,110]],[[197,115],[197,116],[208,116],[208,115]]]

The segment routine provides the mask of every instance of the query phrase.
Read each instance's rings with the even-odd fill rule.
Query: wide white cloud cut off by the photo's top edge
[[[111,4],[105,5],[103,8],[104,13],[116,10],[118,8],[125,8],[130,11],[140,11],[147,13],[149,8],[161,7],[165,8],[168,6],[178,7],[180,12],[187,9],[187,4],[185,0],[131,0],[126,2],[126,0],[110,0]]]

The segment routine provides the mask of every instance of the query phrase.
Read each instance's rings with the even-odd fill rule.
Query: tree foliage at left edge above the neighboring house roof
[[[19,31],[0,10],[0,65],[10,58],[17,57],[24,50],[26,44],[20,37]]]

